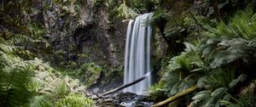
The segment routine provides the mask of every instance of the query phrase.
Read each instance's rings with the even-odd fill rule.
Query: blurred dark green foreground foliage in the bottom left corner
[[[32,98],[28,84],[32,82],[35,65],[0,51],[0,105],[26,106]]]

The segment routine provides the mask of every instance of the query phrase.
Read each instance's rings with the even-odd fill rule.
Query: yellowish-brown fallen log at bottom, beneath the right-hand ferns
[[[160,106],[163,106],[165,104],[168,104],[172,101],[175,101],[175,100],[183,97],[184,95],[195,92],[195,90],[197,90],[198,88],[199,87],[197,85],[195,85],[193,87],[189,87],[188,89],[184,90],[183,92],[177,93],[176,95],[174,95],[174,96],[172,96],[172,97],[170,97],[170,98],[168,98],[168,99],[166,99],[166,100],[164,100],[164,101],[162,101],[158,104],[154,104],[151,107],[160,107]]]

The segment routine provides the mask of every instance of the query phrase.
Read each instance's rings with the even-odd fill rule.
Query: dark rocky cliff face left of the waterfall
[[[96,62],[115,67],[123,62],[125,22],[110,26],[106,8],[94,7],[90,0],[84,1],[77,12],[70,10],[64,16],[58,5],[49,3],[49,7],[51,9],[44,10],[44,22],[55,51],[55,63]]]

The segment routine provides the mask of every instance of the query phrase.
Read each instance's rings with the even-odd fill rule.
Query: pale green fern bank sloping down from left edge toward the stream
[[[8,36],[0,37],[0,106],[93,106],[79,80],[62,76],[41,59],[22,59],[31,55],[23,47],[29,37]]]

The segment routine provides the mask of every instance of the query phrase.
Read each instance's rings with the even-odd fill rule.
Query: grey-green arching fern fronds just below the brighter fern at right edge
[[[255,52],[253,41],[247,42],[241,38],[223,40],[218,42],[215,48],[209,45],[202,53],[206,59],[211,61],[212,68],[230,64],[237,59],[247,61],[253,57],[252,52]]]

